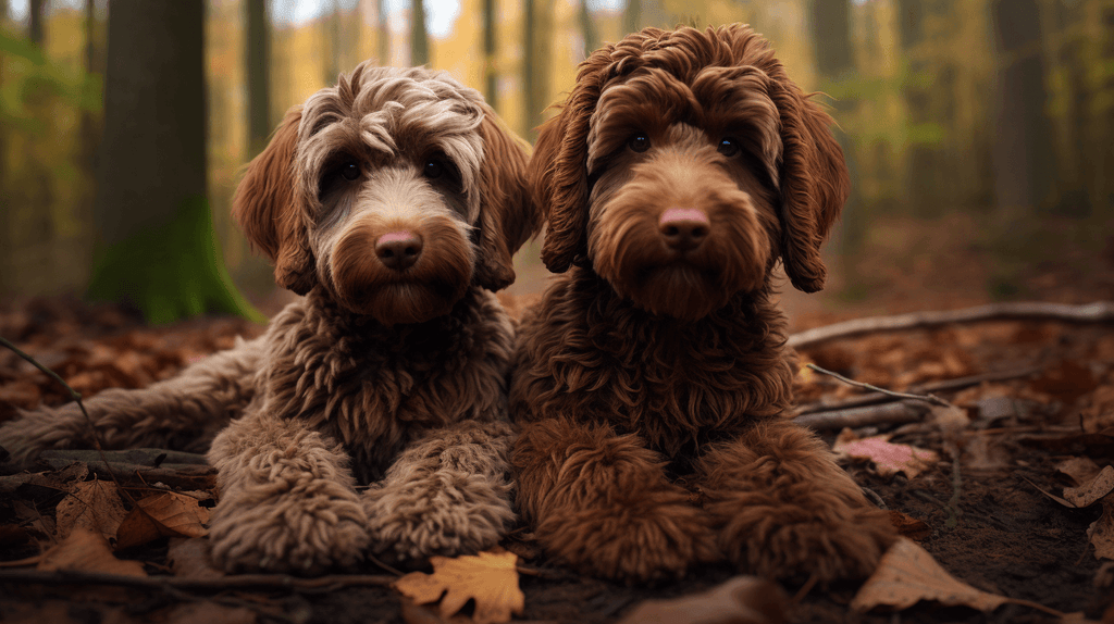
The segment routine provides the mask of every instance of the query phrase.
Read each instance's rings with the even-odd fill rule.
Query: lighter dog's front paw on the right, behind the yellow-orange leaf
[[[515,521],[510,487],[486,476],[440,471],[363,494],[371,549],[390,561],[476,553]]]

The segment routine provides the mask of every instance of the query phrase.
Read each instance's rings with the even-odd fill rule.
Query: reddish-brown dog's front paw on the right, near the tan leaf
[[[886,512],[831,498],[776,502],[740,496],[711,509],[725,519],[720,546],[736,566],[770,578],[821,583],[869,576],[897,532]]]

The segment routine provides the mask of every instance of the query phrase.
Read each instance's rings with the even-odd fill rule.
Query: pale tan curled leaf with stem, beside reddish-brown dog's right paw
[[[851,608],[858,612],[876,606],[902,610],[920,601],[936,601],[947,606],[966,605],[987,613],[1005,603],[1016,603],[1062,615],[1029,601],[976,590],[948,574],[925,548],[905,537],[886,552],[874,574],[851,601]]]

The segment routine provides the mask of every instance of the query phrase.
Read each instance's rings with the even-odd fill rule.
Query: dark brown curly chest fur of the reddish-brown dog
[[[793,372],[784,317],[769,299],[768,291],[736,295],[683,323],[641,310],[573,269],[519,328],[511,414],[603,420],[668,457],[779,415]]]

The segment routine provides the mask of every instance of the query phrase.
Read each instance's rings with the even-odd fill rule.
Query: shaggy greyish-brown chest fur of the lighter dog
[[[362,482],[430,427],[506,418],[512,328],[486,290],[448,315],[384,327],[317,290],[271,324],[273,353],[257,385],[270,409],[342,442]]]

